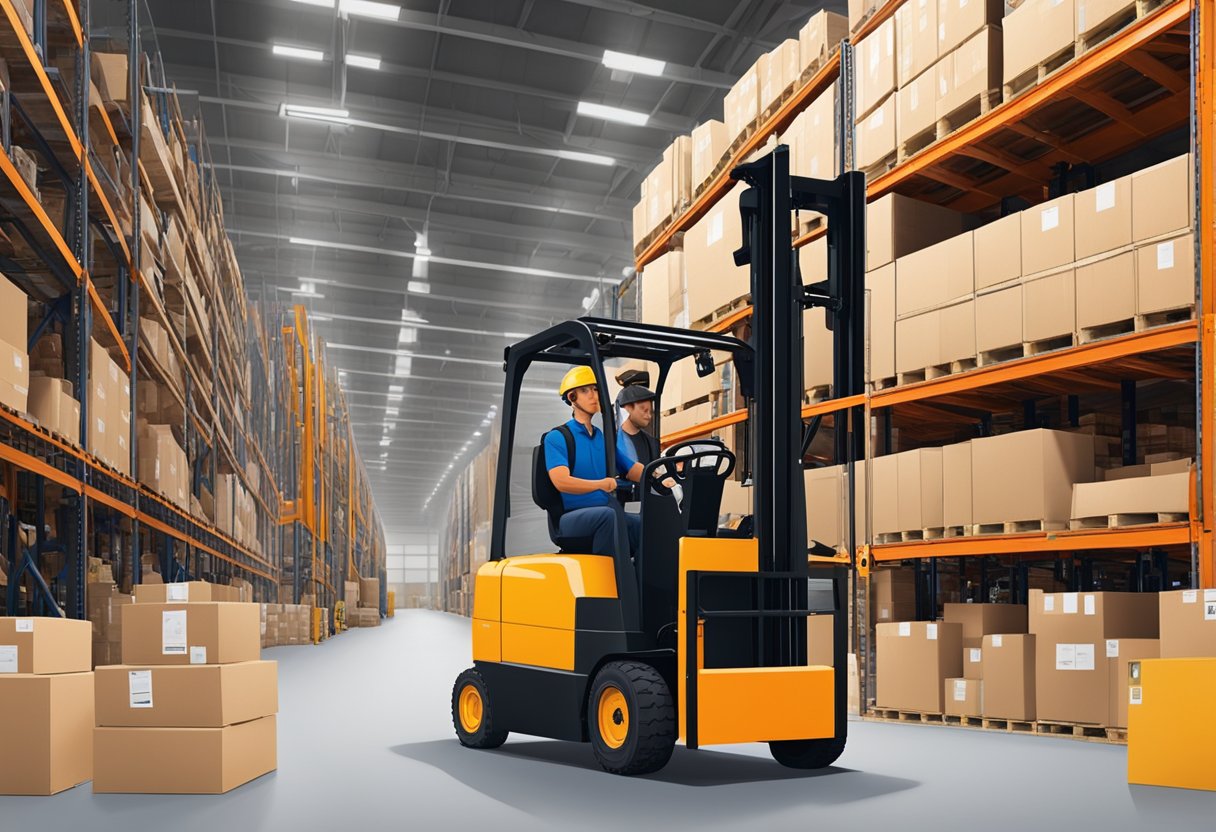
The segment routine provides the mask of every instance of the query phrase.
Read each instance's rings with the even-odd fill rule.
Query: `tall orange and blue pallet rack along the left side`
[[[167,580],[242,578],[253,585],[257,600],[289,603],[299,602],[311,584],[317,606],[332,608],[340,597],[340,588],[334,590],[338,575],[384,574],[383,530],[354,450],[345,403],[340,394],[327,399],[323,383],[317,398],[298,395],[297,375],[287,373],[288,359],[303,353],[306,365],[317,367],[316,381],[322,378],[323,345],[308,330],[302,309],[252,305],[243,289],[219,291],[216,279],[202,268],[204,234],[225,240],[219,186],[207,164],[201,118],[181,118],[175,91],[157,69],[154,47],[145,64],[148,32],[141,6],[139,0],[34,0],[27,28],[24,5],[0,0],[0,57],[11,80],[11,89],[0,95],[0,223],[23,246],[15,253],[6,244],[0,268],[49,309],[32,330],[30,347],[47,327],[62,327],[66,377],[81,411],[81,442],[75,445],[26,414],[0,407],[6,609],[84,618],[86,555],[94,552],[111,555],[114,579],[124,588],[141,581],[141,553],[147,552]],[[90,92],[94,40],[126,52],[126,109],[107,108],[96,90]],[[158,74],[156,85],[151,79]],[[143,94],[151,103],[147,111],[141,107]],[[39,153],[64,191],[62,231],[11,161],[15,134]],[[185,148],[181,185],[148,156],[150,146],[167,141]],[[125,153],[130,168],[125,196],[124,184],[114,180],[101,156],[114,148]],[[153,285],[150,270],[141,268],[141,192],[151,195],[158,209],[171,208],[191,220],[186,255],[209,305],[201,307],[180,283]],[[235,263],[231,251],[229,255]],[[238,272],[230,277],[241,286]],[[178,315],[184,328],[174,324]],[[181,381],[156,358],[143,319],[168,333],[185,371]],[[268,332],[275,326],[286,332],[288,325],[298,350],[278,332]],[[131,474],[85,448],[94,337],[130,382]],[[233,476],[257,506],[253,536],[260,547],[236,540],[201,511],[178,506],[136,479],[137,382],[145,377],[161,383],[180,410],[191,496],[198,499],[203,489],[214,494],[219,476]],[[336,382],[328,382],[334,390]],[[280,423],[288,412],[298,429]],[[331,452],[339,448],[340,456]],[[332,516],[348,522],[331,539]],[[340,572],[334,567],[339,558]],[[286,586],[285,574],[293,578]]]

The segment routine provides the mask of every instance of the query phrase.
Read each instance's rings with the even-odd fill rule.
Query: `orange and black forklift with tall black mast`
[[[846,594],[856,562],[816,558],[821,547],[807,546],[803,459],[818,421],[804,425],[801,417],[801,327],[804,309],[826,309],[835,394],[861,393],[865,178],[856,172],[835,180],[790,176],[786,146],[731,176],[749,186],[741,197],[743,246],[734,263],[750,266],[750,343],[581,317],[506,349],[490,561],[474,585],[473,667],[452,688],[452,723],[466,747],[497,748],[512,731],[590,742],[599,765],[619,775],[658,771],[681,740],[689,749],[766,742],[779,764],[794,769],[832,765],[844,751]],[[801,282],[790,236],[794,210],[827,215],[822,283]],[[694,361],[704,377],[714,372],[715,352],[733,358],[748,403],[750,518],[738,529],[719,528],[724,483],[739,461],[721,442],[694,439],[644,466],[638,484],[623,483],[641,502],[635,556],[618,501],[615,556],[587,555],[590,540],[559,534],[561,501],[554,505],[546,489],[537,446],[533,500],[548,513],[557,551],[506,556],[516,411],[529,366],[587,366],[608,401],[604,361],[641,359],[658,366],[662,400],[676,361]],[[658,404],[654,411],[658,418]],[[603,407],[601,418],[610,472],[614,409]],[[852,465],[863,411],[834,418],[838,460]],[[657,435],[658,429],[655,421]],[[671,496],[672,480],[683,489],[682,505]],[[833,617],[832,667],[807,660],[807,619],[816,614]]]

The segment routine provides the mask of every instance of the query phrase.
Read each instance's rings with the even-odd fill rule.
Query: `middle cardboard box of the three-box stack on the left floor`
[[[96,671],[97,725],[224,727],[278,713],[278,663],[242,662]]]

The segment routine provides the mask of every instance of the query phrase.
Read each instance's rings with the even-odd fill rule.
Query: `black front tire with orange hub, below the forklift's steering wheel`
[[[617,698],[619,693],[621,698]],[[604,736],[599,725],[601,698],[624,707],[606,709],[623,735]],[[596,760],[604,771],[644,775],[658,771],[671,759],[676,744],[676,709],[668,684],[659,671],[641,662],[609,662],[591,682],[587,697],[587,733]]]

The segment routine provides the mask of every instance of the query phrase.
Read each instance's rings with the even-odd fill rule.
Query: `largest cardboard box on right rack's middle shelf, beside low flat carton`
[[[1020,431],[972,440],[976,523],[1066,523],[1073,484],[1093,480],[1093,437]]]

